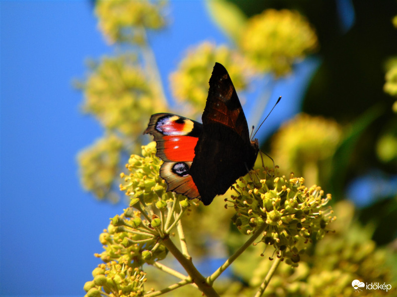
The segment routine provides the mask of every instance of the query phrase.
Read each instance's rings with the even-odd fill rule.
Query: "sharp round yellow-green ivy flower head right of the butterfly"
[[[265,248],[273,246],[277,257],[296,265],[306,249],[304,244],[320,240],[330,231],[327,225],[335,217],[326,205],[331,194],[325,195],[318,186],[307,188],[305,180],[293,174],[289,178],[273,176],[269,171],[264,174],[259,181],[240,178],[238,195],[225,199],[229,202],[225,206],[236,210],[232,221],[240,232],[249,235],[262,228],[259,243]]]

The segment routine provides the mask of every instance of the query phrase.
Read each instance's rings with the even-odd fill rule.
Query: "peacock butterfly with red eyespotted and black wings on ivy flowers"
[[[160,177],[172,191],[209,205],[255,164],[258,140],[251,141],[247,120],[225,67],[215,63],[209,79],[202,124],[172,113],[150,117],[144,134],[154,136],[164,163]]]

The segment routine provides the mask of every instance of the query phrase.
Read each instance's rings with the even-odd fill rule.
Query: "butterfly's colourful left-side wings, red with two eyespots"
[[[190,175],[195,147],[202,132],[202,124],[172,113],[156,113],[150,117],[144,134],[154,136],[156,155],[164,161],[160,177],[173,191],[188,198],[199,198],[199,191]]]

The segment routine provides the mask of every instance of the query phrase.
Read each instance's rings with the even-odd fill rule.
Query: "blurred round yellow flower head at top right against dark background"
[[[315,51],[318,40],[297,11],[267,9],[248,20],[240,45],[257,69],[281,76],[297,59]]]

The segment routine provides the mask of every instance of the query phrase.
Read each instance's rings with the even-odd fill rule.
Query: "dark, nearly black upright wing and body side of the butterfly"
[[[251,142],[247,120],[225,67],[215,63],[202,114],[202,133],[195,147],[190,174],[204,205],[224,194],[251,170],[258,142]]]

